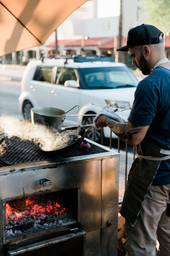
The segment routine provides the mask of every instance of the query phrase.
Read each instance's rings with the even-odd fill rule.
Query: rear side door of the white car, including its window
[[[30,90],[35,98],[35,102],[37,102],[37,106],[52,107],[53,70],[53,67],[40,66],[37,68],[34,79],[30,81]]]

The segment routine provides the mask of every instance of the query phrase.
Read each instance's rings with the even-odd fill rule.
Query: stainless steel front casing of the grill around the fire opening
[[[117,250],[119,154],[101,145],[99,147],[105,148],[107,152],[60,158],[56,162],[42,161],[0,168],[0,237],[4,239],[4,243],[7,239],[3,234],[5,221],[2,215],[5,215],[5,207],[2,209],[2,205],[7,200],[77,188],[78,222],[87,232],[86,251],[96,251],[99,256],[99,251],[102,256],[114,255],[113,252]],[[51,185],[43,187],[40,185],[42,179],[51,180]],[[107,221],[111,221],[112,225],[107,226]],[[91,239],[94,240],[93,243]],[[17,239],[14,237],[13,240]],[[19,245],[27,244],[26,242],[27,240],[20,240]],[[5,248],[1,240],[0,255],[4,254]],[[92,256],[94,253],[87,255]]]

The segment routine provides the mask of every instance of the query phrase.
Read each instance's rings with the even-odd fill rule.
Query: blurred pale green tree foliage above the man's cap
[[[141,0],[147,24],[166,33],[170,29],[170,0]]]

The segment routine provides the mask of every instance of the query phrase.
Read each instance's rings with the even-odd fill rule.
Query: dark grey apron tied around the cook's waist
[[[162,157],[164,154],[168,156]],[[169,158],[170,151],[155,146],[147,136],[137,145],[137,158],[134,160],[128,175],[127,188],[120,211],[120,214],[128,219],[132,226],[137,221],[141,205],[161,160]]]

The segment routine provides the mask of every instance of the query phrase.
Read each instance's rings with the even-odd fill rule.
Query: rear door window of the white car
[[[49,67],[49,68],[39,67],[34,80],[43,81],[43,82],[51,82],[52,81],[52,73],[53,73],[53,67]]]

